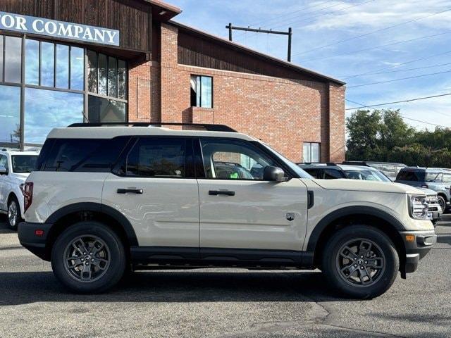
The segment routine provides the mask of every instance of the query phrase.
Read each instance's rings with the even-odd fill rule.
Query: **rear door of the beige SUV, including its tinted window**
[[[184,258],[197,258],[199,194],[192,140],[133,140],[104,182],[102,204],[121,211],[130,220],[138,244],[147,247],[150,256],[183,251]]]

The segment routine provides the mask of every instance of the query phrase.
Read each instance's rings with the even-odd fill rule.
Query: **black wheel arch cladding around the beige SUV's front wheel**
[[[404,226],[393,215],[369,206],[352,206],[342,208],[326,215],[311,232],[307,244],[307,257],[310,262],[307,265],[319,266],[323,253],[323,247],[333,232],[351,225],[369,225],[383,231],[395,244],[400,257],[400,267],[404,268],[405,247],[400,231]]]

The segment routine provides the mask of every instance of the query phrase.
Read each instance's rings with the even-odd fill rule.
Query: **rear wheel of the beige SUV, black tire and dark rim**
[[[94,221],[70,226],[58,236],[51,251],[54,275],[77,294],[111,289],[123,277],[125,264],[121,239],[109,227]]]

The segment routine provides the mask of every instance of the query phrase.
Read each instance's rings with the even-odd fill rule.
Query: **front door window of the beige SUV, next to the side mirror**
[[[204,170],[207,178],[218,180],[263,180],[264,168],[276,163],[246,142],[202,139]]]

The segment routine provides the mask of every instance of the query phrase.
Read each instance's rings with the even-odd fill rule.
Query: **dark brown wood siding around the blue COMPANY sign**
[[[121,48],[149,52],[152,6],[138,0],[1,0],[0,11],[111,28]]]

